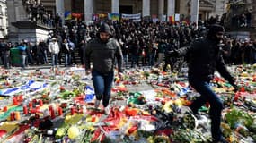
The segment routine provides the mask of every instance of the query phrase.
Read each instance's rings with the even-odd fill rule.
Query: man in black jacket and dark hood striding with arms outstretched
[[[220,123],[223,102],[209,86],[218,71],[236,90],[235,80],[225,68],[225,63],[218,44],[223,38],[225,29],[220,25],[212,25],[207,33],[207,38],[199,39],[190,46],[179,49],[172,55],[186,55],[189,66],[190,86],[199,92],[198,97],[190,105],[193,114],[198,114],[199,108],[209,102],[209,115],[211,119],[211,133],[214,142],[226,142],[222,137]]]

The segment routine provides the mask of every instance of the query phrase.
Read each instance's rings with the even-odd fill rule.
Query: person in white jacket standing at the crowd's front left
[[[59,53],[57,38],[52,38],[52,41],[49,43],[49,53],[51,54],[52,68],[55,69],[55,67],[57,66],[57,55]]]

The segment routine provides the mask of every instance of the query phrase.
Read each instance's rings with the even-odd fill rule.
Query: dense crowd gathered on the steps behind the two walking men
[[[122,48],[126,68],[158,66],[164,63],[164,57],[168,57],[168,51],[189,46],[191,41],[206,37],[208,26],[207,23],[200,23],[196,29],[193,24],[171,22],[108,21],[108,23],[114,33],[113,37],[119,41]],[[49,38],[40,39],[37,43],[27,39],[14,44],[1,41],[1,63],[9,68],[12,64],[11,56],[6,57],[6,55],[11,55],[10,48],[18,47],[24,58],[22,67],[48,63],[48,55],[52,55],[53,51],[56,55],[51,60],[54,65],[84,64],[84,48],[88,42],[96,38],[100,24],[101,22],[86,25],[82,21],[66,21],[65,26],[50,30]],[[53,45],[55,42],[57,44]],[[22,48],[23,46],[25,48]],[[256,41],[249,38],[231,38],[227,35],[220,46],[222,46],[225,63],[256,63]],[[75,52],[78,53],[80,61],[76,60]],[[166,68],[163,70],[166,71]]]

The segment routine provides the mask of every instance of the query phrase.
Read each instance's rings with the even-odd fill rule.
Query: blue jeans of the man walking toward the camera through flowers
[[[97,100],[102,100],[103,106],[107,107],[110,101],[111,87],[114,80],[114,72],[100,73],[93,70],[93,87],[95,90],[95,95]]]

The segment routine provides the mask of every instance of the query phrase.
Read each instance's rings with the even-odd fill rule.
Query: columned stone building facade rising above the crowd
[[[199,3],[199,19],[207,20],[210,16],[225,13],[227,0],[40,0],[47,10],[52,13],[86,13],[85,20],[92,19],[92,13],[142,13],[142,16],[179,13],[181,19],[191,19],[192,3]],[[64,6],[64,7],[63,7]],[[190,20],[194,21],[194,20]]]

